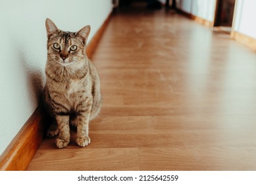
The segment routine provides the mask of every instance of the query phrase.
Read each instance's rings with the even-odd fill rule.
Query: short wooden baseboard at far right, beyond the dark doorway
[[[248,35],[241,34],[239,32],[232,31],[231,32],[232,39],[242,43],[243,45],[253,49],[256,51],[256,39],[253,37],[249,37]]]

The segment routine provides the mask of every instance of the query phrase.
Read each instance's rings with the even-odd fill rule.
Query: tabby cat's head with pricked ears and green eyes
[[[84,61],[86,58],[86,41],[90,34],[90,26],[78,32],[63,32],[49,18],[45,21],[47,30],[48,61],[62,66],[70,66]]]

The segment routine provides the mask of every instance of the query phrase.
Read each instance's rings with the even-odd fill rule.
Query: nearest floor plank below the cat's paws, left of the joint
[[[44,147],[44,146],[42,146]],[[55,152],[55,156],[53,156]],[[63,152],[63,154],[60,154]],[[45,161],[47,160],[47,161]],[[66,163],[72,164],[66,164]],[[38,150],[34,158],[33,170],[138,170],[138,149],[84,149],[70,147],[64,150],[48,147]],[[54,163],[54,164],[53,164]],[[31,168],[31,167],[30,167]],[[30,170],[30,168],[28,168]]]

